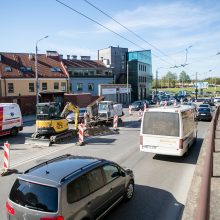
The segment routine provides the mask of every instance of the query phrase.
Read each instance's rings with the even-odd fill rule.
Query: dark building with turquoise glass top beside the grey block
[[[149,98],[152,93],[151,51],[128,52],[127,67],[131,101]]]

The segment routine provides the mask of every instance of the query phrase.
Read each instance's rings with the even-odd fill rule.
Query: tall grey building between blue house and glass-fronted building
[[[112,68],[115,83],[126,83],[126,54],[128,48],[108,47],[98,50],[98,60]]]

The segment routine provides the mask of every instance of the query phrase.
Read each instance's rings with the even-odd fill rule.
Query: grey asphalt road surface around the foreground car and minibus
[[[24,145],[24,137],[34,130],[33,124],[29,124],[17,138],[10,139],[11,167],[23,172],[45,159],[65,153],[111,159],[134,170],[136,193],[132,201],[119,204],[105,219],[180,219],[208,124],[199,122],[197,144],[190,150],[189,156],[183,158],[140,152],[140,122],[137,114],[124,120],[120,134],[88,138],[86,145],[81,147],[75,146],[76,140],[52,147]],[[0,158],[3,158],[1,149]],[[0,177],[1,220],[6,219],[5,201],[16,176],[17,174]]]

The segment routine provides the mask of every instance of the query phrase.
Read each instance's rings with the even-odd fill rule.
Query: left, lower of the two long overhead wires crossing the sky
[[[122,39],[124,39],[124,40],[130,42],[131,44],[137,46],[138,48],[140,48],[140,49],[142,49],[142,50],[146,50],[146,49],[143,48],[142,46],[140,46],[140,45],[136,44],[135,42],[129,40],[128,38],[126,38],[126,37],[124,37],[123,35],[117,33],[116,31],[114,31],[114,30],[112,30],[112,29],[106,27],[105,25],[103,25],[103,24],[101,24],[100,22],[94,20],[93,18],[90,18],[89,16],[83,14],[82,12],[80,12],[80,11],[74,9],[73,7],[71,7],[71,6],[67,5],[67,4],[65,4],[64,2],[59,1],[59,0],[55,0],[55,1],[58,2],[59,4],[65,6],[66,8],[69,8],[70,10],[76,12],[77,14],[79,14],[79,15],[81,15],[81,16],[87,18],[88,20],[90,20],[90,21],[92,21],[92,22],[98,24],[99,26],[103,27],[104,29],[106,29],[106,30],[108,30],[108,31],[110,31],[110,32],[112,32],[112,33],[114,33],[115,35],[119,36],[120,38],[122,38]],[[159,57],[159,56],[153,54],[152,52],[151,52],[151,54],[152,54],[153,56],[157,57],[158,59],[160,59],[161,61],[163,61],[163,62],[165,62],[165,63],[167,63],[167,64],[169,64],[169,65],[173,65],[173,64],[171,64],[170,62],[168,62],[168,61],[162,59],[161,57]]]

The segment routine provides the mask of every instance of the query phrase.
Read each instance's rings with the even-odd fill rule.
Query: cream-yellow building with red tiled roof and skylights
[[[0,96],[36,95],[35,64],[34,54],[0,52]],[[56,51],[38,54],[37,66],[40,100],[51,96],[53,101],[62,101],[68,88],[68,72],[59,54]]]

